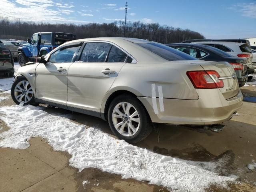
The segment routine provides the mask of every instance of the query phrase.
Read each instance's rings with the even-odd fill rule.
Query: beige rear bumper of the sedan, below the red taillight
[[[160,112],[159,98],[156,98],[158,114],[154,112],[152,98],[138,99],[146,107],[152,122],[184,125],[211,125],[228,121],[232,118],[232,114],[238,111],[243,100],[240,91],[236,97],[229,100],[216,90],[208,90],[207,94],[198,93],[198,95],[198,100],[163,99],[162,112]]]

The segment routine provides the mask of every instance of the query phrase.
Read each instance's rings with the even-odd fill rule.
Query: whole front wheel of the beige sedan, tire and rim
[[[16,104],[24,103],[37,106],[35,102],[34,92],[28,80],[25,77],[17,78],[12,84],[11,89],[12,100]]]

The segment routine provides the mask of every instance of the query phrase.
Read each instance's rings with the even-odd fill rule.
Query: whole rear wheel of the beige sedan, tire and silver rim
[[[146,109],[129,94],[117,96],[110,103],[108,123],[119,139],[130,143],[140,142],[152,131],[152,122]]]

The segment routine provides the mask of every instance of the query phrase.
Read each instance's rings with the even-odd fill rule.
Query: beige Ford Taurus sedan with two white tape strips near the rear
[[[147,40],[74,40],[30,62],[12,85],[16,104],[44,103],[102,118],[127,142],[146,138],[152,123],[218,124],[242,105],[230,64]]]

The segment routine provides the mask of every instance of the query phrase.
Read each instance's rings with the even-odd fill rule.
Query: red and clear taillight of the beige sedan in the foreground
[[[197,89],[214,89],[224,87],[220,75],[214,70],[205,71],[187,71],[187,76]]]

